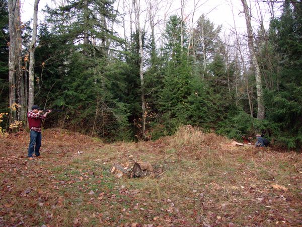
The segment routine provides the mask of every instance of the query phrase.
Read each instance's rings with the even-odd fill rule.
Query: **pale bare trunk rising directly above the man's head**
[[[29,71],[28,71],[28,111],[34,105],[34,64],[35,64],[35,45],[37,41],[37,27],[38,27],[38,5],[40,0],[35,0],[34,4],[34,21],[32,41],[29,47]]]

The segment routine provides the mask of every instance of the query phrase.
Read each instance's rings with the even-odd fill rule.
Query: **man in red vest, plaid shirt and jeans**
[[[28,125],[30,129],[30,142],[28,147],[28,159],[33,160],[33,154],[35,152],[36,157],[40,156],[40,146],[42,141],[41,135],[41,123],[46,118],[47,114],[51,110],[42,115],[42,110],[37,105],[32,106],[32,110],[27,113]]]

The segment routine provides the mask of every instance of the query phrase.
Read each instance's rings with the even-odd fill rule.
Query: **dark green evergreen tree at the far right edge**
[[[285,1],[280,19],[271,21],[270,38],[281,68],[274,75],[278,86],[267,88],[265,96],[275,139],[288,148],[302,146],[302,5],[295,2]]]

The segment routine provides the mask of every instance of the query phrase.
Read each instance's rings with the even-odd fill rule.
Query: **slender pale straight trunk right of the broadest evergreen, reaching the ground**
[[[139,1],[139,0],[138,0]],[[140,92],[141,92],[141,117],[142,117],[142,136],[146,139],[146,108],[145,108],[145,97],[144,97],[144,78],[143,78],[143,47],[142,47],[142,34],[140,29],[139,14],[140,14],[140,4],[137,0],[134,0],[134,13],[136,18],[136,26],[138,31],[138,41],[139,41],[139,78],[140,78]]]

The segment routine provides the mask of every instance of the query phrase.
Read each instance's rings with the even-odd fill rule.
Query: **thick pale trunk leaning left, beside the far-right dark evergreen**
[[[248,46],[250,52],[250,58],[252,62],[252,66],[254,68],[254,72],[256,75],[256,89],[257,89],[257,103],[258,103],[258,112],[257,118],[264,119],[264,105],[263,105],[263,91],[262,91],[262,81],[261,81],[261,73],[260,67],[256,58],[256,53],[254,49],[254,36],[253,29],[251,25],[251,15],[249,13],[248,5],[246,0],[241,0],[243,5],[243,10],[246,19],[247,31],[248,31]]]

